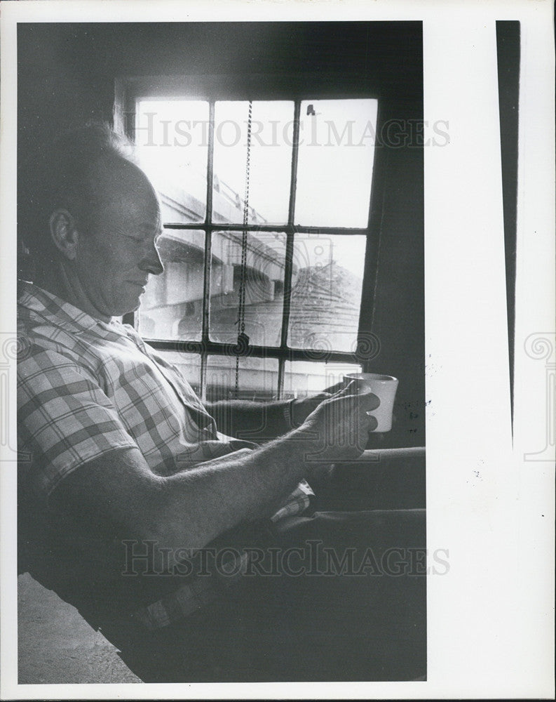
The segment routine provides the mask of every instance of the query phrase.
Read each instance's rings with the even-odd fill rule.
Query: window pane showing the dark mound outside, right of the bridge
[[[296,234],[287,343],[355,351],[366,237]]]

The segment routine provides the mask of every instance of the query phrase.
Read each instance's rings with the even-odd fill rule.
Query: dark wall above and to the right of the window
[[[20,183],[40,143],[86,119],[111,120],[116,77],[257,73],[295,92],[304,84],[325,89],[323,76],[336,74],[330,91],[341,83],[377,95],[383,119],[407,124],[423,116],[420,22],[36,23],[18,30]],[[374,184],[372,222],[380,249],[368,259],[378,265],[377,285],[365,291],[374,296],[365,319],[381,352],[369,370],[400,378],[400,422],[390,440],[423,444],[423,152],[415,138],[379,148],[384,177]],[[20,187],[20,207],[25,197]]]

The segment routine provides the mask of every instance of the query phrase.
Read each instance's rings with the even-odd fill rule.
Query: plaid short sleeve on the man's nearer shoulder
[[[50,496],[83,463],[135,447],[97,380],[72,359],[35,349],[18,364],[18,442],[34,490]]]

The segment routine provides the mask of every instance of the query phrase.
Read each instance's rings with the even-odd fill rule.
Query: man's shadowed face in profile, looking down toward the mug
[[[98,173],[89,224],[80,232],[76,274],[89,302],[107,317],[132,312],[150,274],[163,272],[158,199],[131,164]]]

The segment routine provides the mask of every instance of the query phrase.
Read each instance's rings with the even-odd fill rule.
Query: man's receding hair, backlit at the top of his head
[[[32,253],[54,253],[50,215],[65,209],[79,222],[93,209],[95,184],[104,167],[135,163],[133,144],[105,122],[65,131],[33,154],[18,183],[18,233]]]

